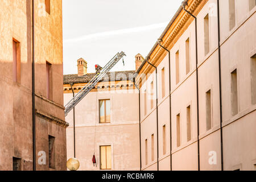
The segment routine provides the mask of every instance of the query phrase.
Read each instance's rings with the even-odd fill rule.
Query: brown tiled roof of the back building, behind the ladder
[[[109,72],[102,78],[101,81],[121,81],[121,80],[133,80],[135,71],[120,71],[120,72]],[[96,73],[88,73],[84,76],[74,75],[64,75],[63,83],[64,84],[79,84],[86,83],[92,80]]]

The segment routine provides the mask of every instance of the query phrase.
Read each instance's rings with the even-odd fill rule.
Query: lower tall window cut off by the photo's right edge
[[[251,57],[251,104],[256,104],[256,55]]]

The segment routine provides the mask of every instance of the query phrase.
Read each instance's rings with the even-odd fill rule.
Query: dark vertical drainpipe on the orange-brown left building
[[[32,0],[32,142],[33,142],[33,171],[36,171],[36,130],[35,130],[35,13]]]

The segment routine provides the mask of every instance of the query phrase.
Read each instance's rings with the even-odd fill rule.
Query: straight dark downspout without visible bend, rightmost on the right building
[[[221,96],[221,52],[220,52],[220,1],[217,0],[217,11],[218,11],[218,78],[220,88],[220,133],[221,133],[221,171],[223,167],[223,131],[222,131],[222,96]]]

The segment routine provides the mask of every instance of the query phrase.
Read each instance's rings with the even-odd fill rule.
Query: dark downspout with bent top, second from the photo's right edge
[[[199,144],[199,84],[198,84],[198,53],[197,53],[197,18],[193,14],[191,14],[185,7],[188,5],[188,0],[182,2],[182,6],[185,12],[195,18],[195,33],[196,33],[196,107],[197,107],[197,163],[198,163],[198,171],[200,171],[200,144]]]

